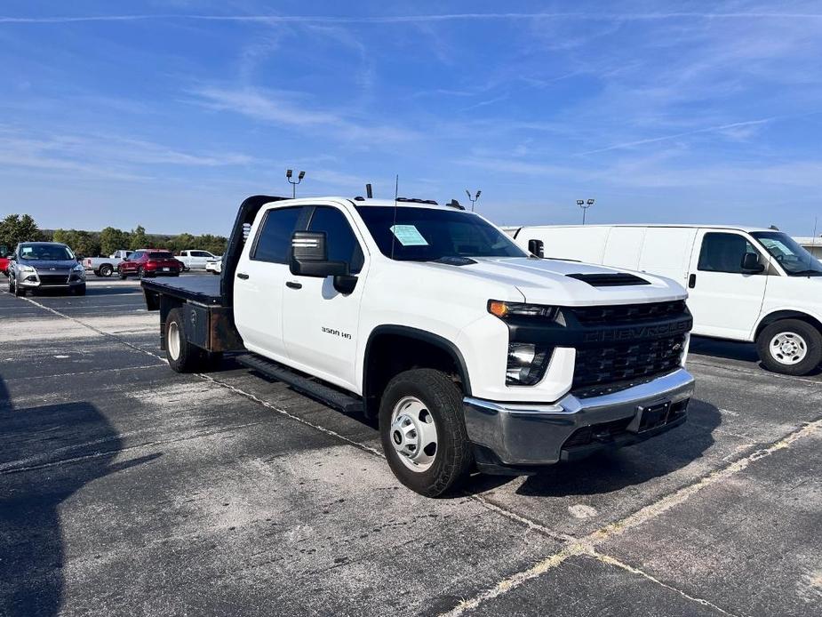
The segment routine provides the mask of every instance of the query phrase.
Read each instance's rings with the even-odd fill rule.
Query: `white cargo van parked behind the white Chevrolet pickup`
[[[822,264],[780,231],[685,225],[506,230],[540,256],[639,270],[687,285],[693,333],[755,341],[772,371],[803,375],[822,362]]]

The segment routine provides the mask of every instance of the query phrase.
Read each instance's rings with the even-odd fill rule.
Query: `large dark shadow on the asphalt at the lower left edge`
[[[59,613],[62,502],[97,478],[160,456],[112,463],[121,449],[94,405],[14,409],[0,378],[0,614]]]

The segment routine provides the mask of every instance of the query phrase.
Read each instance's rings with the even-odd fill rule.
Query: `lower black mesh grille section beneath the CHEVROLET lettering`
[[[635,381],[670,373],[679,368],[686,336],[682,333],[650,341],[577,349],[571,391],[581,395],[592,387],[617,383],[630,388]]]

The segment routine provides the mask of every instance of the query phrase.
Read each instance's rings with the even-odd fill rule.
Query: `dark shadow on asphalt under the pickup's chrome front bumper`
[[[693,400],[688,410],[688,421],[682,426],[640,444],[541,469],[536,476],[526,478],[516,493],[564,497],[612,493],[628,486],[642,485],[700,458],[714,445],[713,432],[721,423],[722,415],[714,405]],[[477,476],[472,478],[467,491],[482,493],[505,485],[512,479]]]

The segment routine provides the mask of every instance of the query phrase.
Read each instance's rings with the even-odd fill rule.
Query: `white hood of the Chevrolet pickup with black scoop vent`
[[[459,268],[474,276],[493,279],[500,284],[512,284],[523,294],[526,302],[561,306],[590,306],[597,304],[638,304],[682,300],[687,297],[682,285],[663,276],[632,272],[621,268],[595,266],[578,261],[537,260],[527,257],[483,257]],[[614,274],[628,272],[650,284],[596,287],[571,278],[573,274]]]

